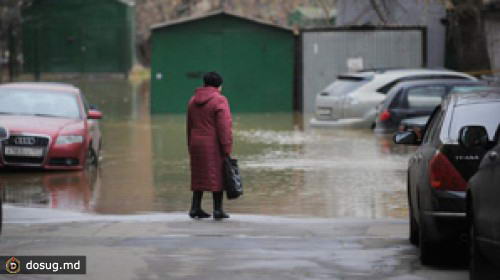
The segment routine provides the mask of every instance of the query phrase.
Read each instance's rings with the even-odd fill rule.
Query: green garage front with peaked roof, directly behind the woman
[[[291,31],[227,15],[155,29],[153,113],[182,113],[202,75],[218,71],[234,112],[293,110]]]

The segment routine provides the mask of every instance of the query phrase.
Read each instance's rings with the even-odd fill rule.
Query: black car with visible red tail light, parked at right
[[[420,145],[408,163],[410,241],[424,264],[440,262],[442,245],[466,240],[465,191],[485,148],[458,144],[464,126],[483,126],[491,141],[500,123],[500,91],[449,95],[432,113],[422,143],[415,132],[398,132],[397,144]]]

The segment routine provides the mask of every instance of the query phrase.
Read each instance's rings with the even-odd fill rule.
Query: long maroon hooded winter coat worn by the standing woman
[[[233,145],[231,126],[226,97],[214,87],[196,89],[187,112],[191,190],[222,191],[224,157]]]

